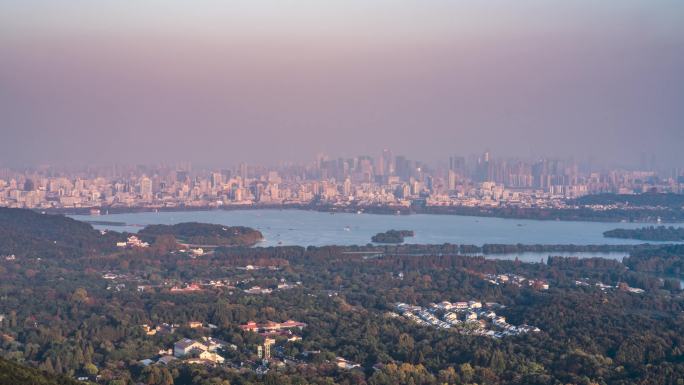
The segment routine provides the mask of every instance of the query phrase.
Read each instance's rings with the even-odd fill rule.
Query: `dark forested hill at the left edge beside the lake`
[[[123,235],[102,235],[87,223],[62,215],[0,208],[0,255],[78,257],[111,251]]]

